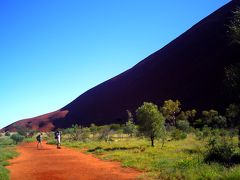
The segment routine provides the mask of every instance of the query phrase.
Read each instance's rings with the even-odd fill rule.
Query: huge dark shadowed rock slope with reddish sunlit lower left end
[[[224,67],[240,58],[240,46],[231,44],[227,36],[227,24],[237,6],[239,0],[231,1],[133,68],[88,90],[50,116],[16,123],[42,130],[76,123],[123,123],[127,109],[134,112],[144,101],[161,105],[167,99],[179,99],[183,109],[223,110],[229,103],[223,93]]]

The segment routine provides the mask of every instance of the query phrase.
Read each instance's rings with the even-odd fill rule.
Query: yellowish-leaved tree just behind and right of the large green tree
[[[167,100],[164,101],[163,107],[160,111],[166,118],[166,120],[173,126],[176,126],[176,115],[181,111],[181,103],[179,100]]]

